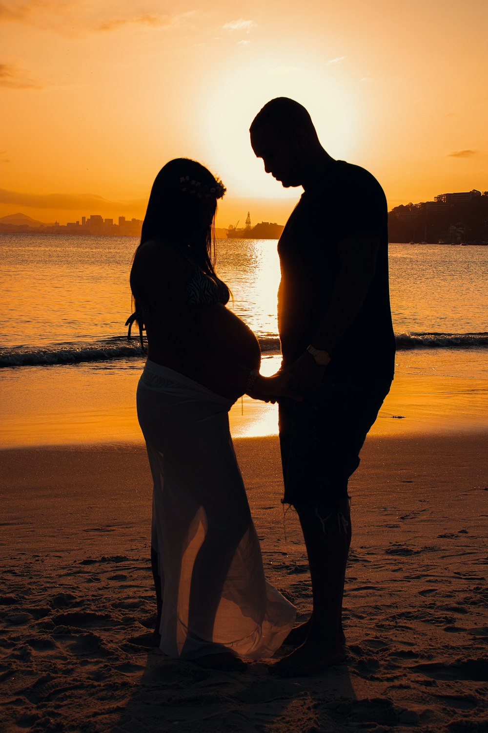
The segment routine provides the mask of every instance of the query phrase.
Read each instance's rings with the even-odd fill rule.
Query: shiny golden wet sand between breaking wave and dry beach
[[[486,377],[449,376],[442,369],[432,374],[429,361],[417,358],[413,366],[407,356],[397,356],[399,369],[370,435],[447,437],[488,431]],[[278,361],[274,357],[263,360],[263,373],[279,368]],[[135,410],[140,366],[32,369],[35,378],[21,370],[4,375],[0,451],[40,445],[142,443]],[[277,435],[277,405],[245,395],[230,409],[229,421],[234,439]]]

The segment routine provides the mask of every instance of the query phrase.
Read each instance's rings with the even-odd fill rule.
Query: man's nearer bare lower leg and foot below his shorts
[[[313,674],[345,659],[342,596],[350,546],[348,500],[337,511],[297,508],[309,558],[313,613],[307,638],[270,668],[282,677]]]

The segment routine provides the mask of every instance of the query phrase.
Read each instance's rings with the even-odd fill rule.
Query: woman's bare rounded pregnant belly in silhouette
[[[258,339],[235,313],[221,303],[200,308],[195,314],[202,335],[216,353],[221,353],[236,364],[259,369],[261,351]]]

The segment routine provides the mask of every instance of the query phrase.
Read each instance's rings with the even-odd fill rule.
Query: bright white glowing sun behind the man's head
[[[233,196],[289,198],[293,191],[277,188],[266,176],[249,144],[249,125],[273,97],[291,97],[309,111],[323,147],[333,158],[353,159],[363,117],[361,100],[352,84],[339,81],[328,67],[301,59],[299,66],[279,65],[271,56],[236,62],[219,76],[201,100],[200,130],[206,163]]]

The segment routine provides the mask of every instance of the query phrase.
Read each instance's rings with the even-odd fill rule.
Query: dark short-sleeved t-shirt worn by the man
[[[331,163],[302,194],[278,243],[282,273],[278,324],[285,364],[313,343],[323,320],[339,272],[337,243],[375,235],[380,240],[375,274],[359,313],[331,350],[326,372],[359,381],[393,377],[387,220],[386,198],[378,181],[345,161]]]

